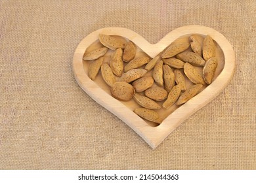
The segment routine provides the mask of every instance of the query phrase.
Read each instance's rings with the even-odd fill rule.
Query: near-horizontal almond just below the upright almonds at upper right
[[[181,54],[178,54],[176,57],[178,59],[181,59],[182,61],[191,63],[195,66],[205,65],[204,59],[194,52],[182,52]]]

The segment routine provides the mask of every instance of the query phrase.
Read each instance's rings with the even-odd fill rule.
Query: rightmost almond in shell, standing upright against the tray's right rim
[[[203,79],[207,84],[211,84],[218,65],[217,58],[210,58],[203,67]]]

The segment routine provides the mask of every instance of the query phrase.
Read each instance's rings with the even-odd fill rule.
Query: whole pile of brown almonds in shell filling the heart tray
[[[217,68],[215,43],[209,35],[202,37],[203,44],[196,35],[177,39],[155,58],[136,57],[137,46],[131,41],[123,42],[103,34],[98,39],[102,47],[83,56],[83,60],[92,61],[88,67],[89,78],[95,80],[101,73],[113,97],[120,101],[133,99],[140,105],[134,112],[157,124],[162,122],[158,110],[192,99],[203,85],[211,84]],[[112,50],[111,59],[106,62],[104,55],[109,50]],[[196,67],[202,67],[203,76]],[[192,86],[186,86],[185,77]]]

